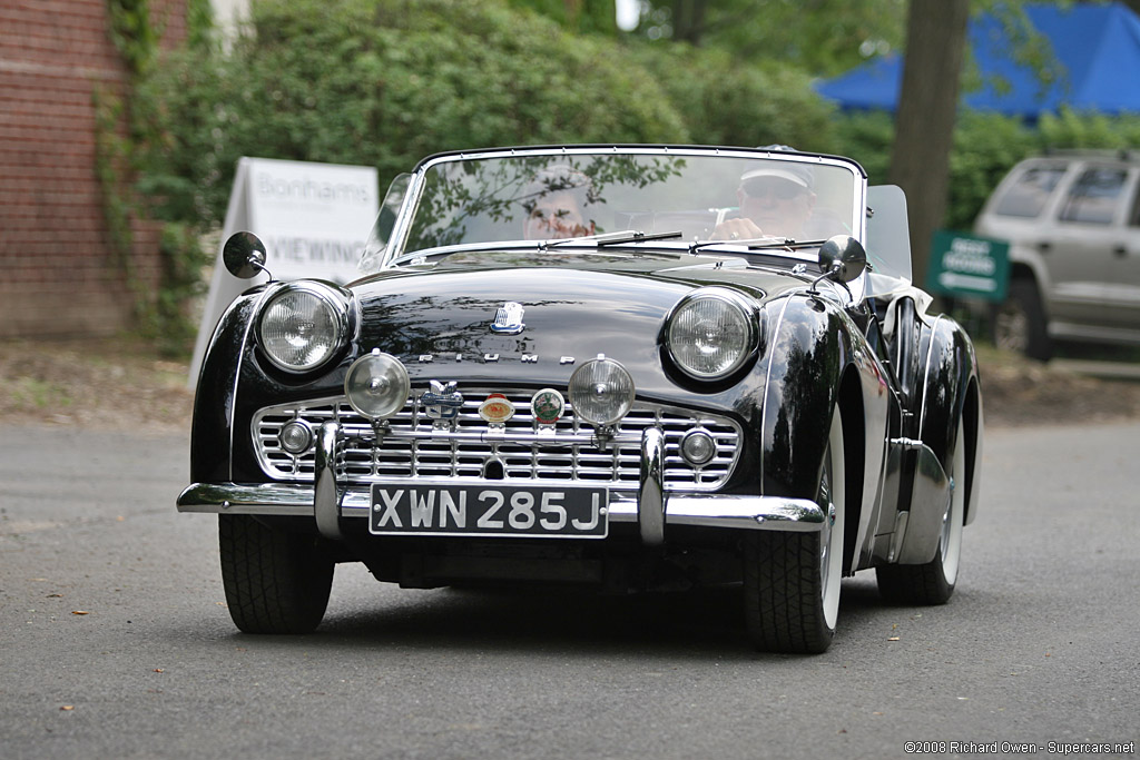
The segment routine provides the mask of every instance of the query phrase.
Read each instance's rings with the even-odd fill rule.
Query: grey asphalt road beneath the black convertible
[[[358,566],[317,634],[241,635],[215,521],[174,512],[184,438],[9,426],[0,757],[1134,753],[1138,455],[1135,423],[990,431],[952,602],[887,606],[860,574],[831,649],[785,656],[748,648],[732,594],[414,591]]]

